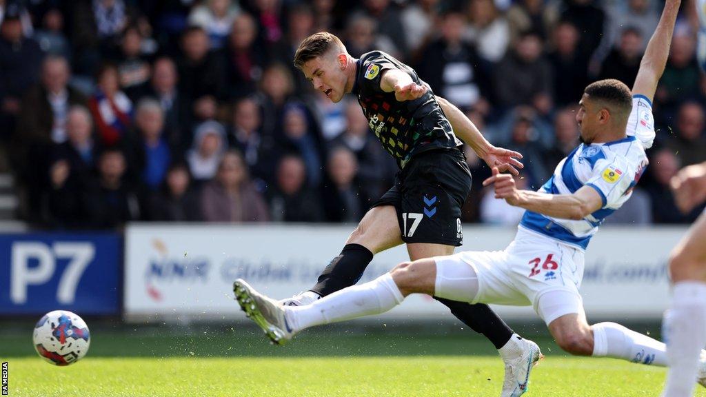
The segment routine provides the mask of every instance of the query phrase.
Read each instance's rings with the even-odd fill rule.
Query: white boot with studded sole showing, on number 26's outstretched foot
[[[245,316],[263,328],[273,344],[282,345],[292,339],[296,332],[287,321],[287,307],[259,294],[241,279],[233,283],[233,292]]]

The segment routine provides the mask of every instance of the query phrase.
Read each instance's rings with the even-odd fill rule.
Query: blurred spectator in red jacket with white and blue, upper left
[[[97,76],[97,88],[88,106],[95,120],[101,143],[111,146],[124,138],[132,126],[133,105],[119,87],[118,69],[103,64]]]

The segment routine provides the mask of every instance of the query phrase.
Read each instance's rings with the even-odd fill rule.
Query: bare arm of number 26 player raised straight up
[[[635,78],[633,95],[645,95],[650,101],[654,98],[657,82],[664,73],[666,60],[669,57],[669,45],[680,4],[681,0],[666,0],[662,18],[659,18],[657,29],[654,30],[650,43],[645,49],[645,55],[640,61],[640,71]]]

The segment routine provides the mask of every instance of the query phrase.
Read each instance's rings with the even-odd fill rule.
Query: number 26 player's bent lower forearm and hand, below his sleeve
[[[504,198],[510,206],[525,208],[552,218],[581,220],[603,206],[603,198],[591,186],[582,186],[574,194],[547,194],[517,190],[515,179],[493,167],[493,176],[483,186],[495,184],[495,198]]]

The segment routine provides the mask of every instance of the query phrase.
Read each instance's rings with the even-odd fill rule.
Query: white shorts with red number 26
[[[463,251],[436,256],[438,297],[470,303],[534,307],[551,323],[564,314],[583,313],[579,294],[584,252],[520,227],[504,251]],[[472,270],[471,270],[472,269]],[[474,280],[462,291],[457,280]],[[456,282],[454,282],[456,280]],[[472,291],[477,285],[477,291]],[[551,292],[551,293],[550,293]]]

